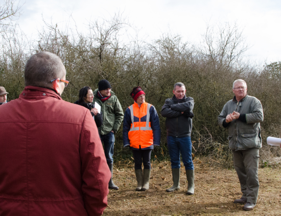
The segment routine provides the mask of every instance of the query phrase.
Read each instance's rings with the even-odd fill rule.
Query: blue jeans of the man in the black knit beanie
[[[104,145],[104,154],[107,164],[113,164],[114,133],[110,131],[105,135],[101,135],[101,141]]]

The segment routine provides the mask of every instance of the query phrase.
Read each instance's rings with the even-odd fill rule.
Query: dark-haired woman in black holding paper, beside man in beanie
[[[97,127],[102,126],[103,120],[102,120],[102,111],[101,113],[98,113],[98,109],[95,108],[95,104],[92,103],[93,101],[93,93],[90,87],[85,86],[79,91],[79,99],[75,101],[75,104],[84,106],[87,108],[90,112],[92,117],[95,119]]]

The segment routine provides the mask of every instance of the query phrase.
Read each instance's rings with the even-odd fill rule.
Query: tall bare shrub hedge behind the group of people
[[[50,51],[62,59],[66,79],[70,81],[62,94],[66,101],[76,101],[83,86],[95,89],[99,80],[106,78],[125,111],[133,103],[132,88],[141,86],[160,119],[161,146],[152,154],[158,161],[169,158],[166,119],[160,116],[161,107],[173,96],[174,84],[182,82],[187,96],[195,100],[192,132],[195,157],[207,156],[217,166],[232,167],[227,131],[219,127],[217,117],[223,105],[233,98],[233,81],[242,78],[247,82],[248,94],[260,99],[264,107],[261,160],[278,157],[279,149],[275,151],[265,142],[267,136],[280,136],[273,132],[280,131],[279,63],[264,67],[249,64],[244,58],[248,46],[236,24],[207,26],[199,45],[169,33],[151,43],[137,38],[123,42],[127,28],[131,28],[130,24],[116,14],[111,20],[90,22],[88,32],[83,34],[52,23],[44,24],[34,42],[27,41],[15,29],[2,33],[0,86],[6,87],[10,99],[17,98],[24,88],[26,60],[38,51]],[[131,151],[123,149],[122,126],[116,133],[114,156],[130,160]]]

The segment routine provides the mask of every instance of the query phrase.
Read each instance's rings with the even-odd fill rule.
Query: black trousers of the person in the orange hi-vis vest
[[[141,170],[142,164],[144,163],[144,169],[151,170],[150,165],[150,158],[151,158],[151,151],[152,149],[146,149],[146,150],[132,150],[134,161],[135,161],[135,170]]]

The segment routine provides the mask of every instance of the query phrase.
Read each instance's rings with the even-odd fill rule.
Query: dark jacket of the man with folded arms
[[[194,116],[192,110],[194,100],[192,97],[186,97],[180,101],[175,95],[168,98],[162,106],[161,116],[166,117],[167,136],[187,137],[191,136],[192,118]],[[184,112],[183,114],[181,112]]]

